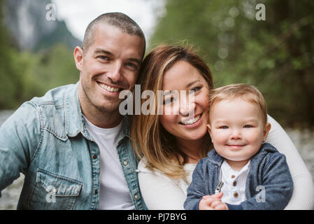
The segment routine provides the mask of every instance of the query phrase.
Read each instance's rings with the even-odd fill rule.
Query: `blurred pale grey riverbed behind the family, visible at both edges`
[[[13,111],[0,111],[0,125],[13,113]],[[314,132],[310,130],[287,129],[287,134],[297,146],[301,157],[306,163],[306,167],[314,177]],[[1,191],[0,210],[16,209],[17,201],[22,190],[24,175],[15,180],[13,184]]]

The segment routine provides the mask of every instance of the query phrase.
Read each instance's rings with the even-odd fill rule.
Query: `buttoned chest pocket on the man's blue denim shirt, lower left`
[[[38,169],[36,183],[31,190],[31,209],[73,209],[82,183],[65,176]]]

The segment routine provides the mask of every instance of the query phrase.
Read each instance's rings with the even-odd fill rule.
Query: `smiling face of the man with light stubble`
[[[85,50],[79,68],[85,105],[98,111],[117,111],[122,102],[120,92],[131,90],[136,83],[143,48],[139,36],[110,25],[96,25],[94,43]]]

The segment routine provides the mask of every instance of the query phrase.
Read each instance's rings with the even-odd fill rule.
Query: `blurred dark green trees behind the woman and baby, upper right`
[[[255,19],[264,3],[266,20]],[[314,125],[314,2],[168,0],[152,35],[159,43],[189,43],[213,71],[215,87],[250,83],[283,125]]]

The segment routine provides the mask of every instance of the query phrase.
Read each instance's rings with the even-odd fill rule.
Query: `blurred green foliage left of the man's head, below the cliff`
[[[0,12],[3,1],[0,0]],[[76,83],[73,50],[53,45],[44,51],[20,52],[0,18],[0,109],[16,109],[59,85]]]

